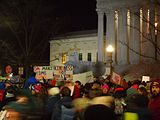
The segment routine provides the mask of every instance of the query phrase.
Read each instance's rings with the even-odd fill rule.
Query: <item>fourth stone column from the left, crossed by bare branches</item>
[[[132,8],[130,13],[130,63],[138,64],[140,62],[140,10],[138,7]]]

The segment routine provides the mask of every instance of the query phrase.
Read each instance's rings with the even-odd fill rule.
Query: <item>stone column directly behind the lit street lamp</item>
[[[115,11],[106,12],[106,47],[111,44],[114,48],[112,53],[113,64],[115,64]],[[107,54],[107,53],[106,53]],[[106,56],[106,60],[108,60]]]

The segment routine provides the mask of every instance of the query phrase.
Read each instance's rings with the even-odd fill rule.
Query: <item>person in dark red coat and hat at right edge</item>
[[[152,81],[150,93],[152,99],[149,101],[148,109],[151,112],[152,120],[160,120],[160,79]]]

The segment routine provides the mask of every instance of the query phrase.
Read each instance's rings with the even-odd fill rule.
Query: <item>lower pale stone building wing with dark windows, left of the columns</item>
[[[71,61],[97,62],[97,30],[72,32],[50,41],[50,65]]]

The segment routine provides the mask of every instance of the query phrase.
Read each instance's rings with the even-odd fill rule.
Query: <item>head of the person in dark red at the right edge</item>
[[[154,80],[151,83],[150,86],[150,92],[153,95],[153,97],[159,96],[160,95],[160,80]]]

